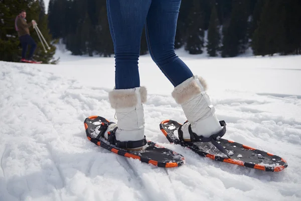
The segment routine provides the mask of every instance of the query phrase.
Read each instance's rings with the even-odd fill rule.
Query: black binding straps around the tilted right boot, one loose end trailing
[[[187,122],[185,122],[184,124],[186,124]],[[210,137],[203,137],[198,136],[196,133],[194,133],[191,129],[191,125],[189,125],[188,127],[188,131],[190,134],[190,140],[191,143],[193,142],[211,142],[218,150],[220,150],[223,154],[225,154],[226,156],[228,156],[228,158],[230,158],[230,156],[228,155],[227,151],[217,142],[218,139],[220,139],[221,137],[223,137],[226,133],[226,122],[225,121],[220,121],[219,122],[221,127],[223,127],[223,129],[221,131],[219,131],[216,134],[211,135]],[[183,138],[183,132],[181,130],[182,126],[180,126],[180,128],[178,129],[178,135],[179,135],[179,139],[184,141]],[[190,142],[188,142],[190,143]]]

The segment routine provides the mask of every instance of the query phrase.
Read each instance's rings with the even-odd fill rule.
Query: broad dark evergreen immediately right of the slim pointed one
[[[223,57],[234,57],[247,48],[247,12],[246,0],[233,0],[231,19],[223,27]]]

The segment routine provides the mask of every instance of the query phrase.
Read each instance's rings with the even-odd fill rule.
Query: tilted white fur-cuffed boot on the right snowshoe
[[[188,120],[178,131],[179,136],[181,133],[184,141],[197,141],[195,138],[191,138],[192,132],[208,138],[223,129],[217,120],[215,109],[211,105],[206,89],[205,80],[195,75],[176,86],[172,92],[176,102],[182,106]],[[189,132],[190,125],[192,132]]]

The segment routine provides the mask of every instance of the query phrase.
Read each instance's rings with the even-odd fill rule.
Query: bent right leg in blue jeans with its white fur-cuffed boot
[[[175,54],[174,42],[181,0],[153,0],[146,18],[146,38],[153,60],[173,83],[172,93],[182,106],[188,123],[179,130],[182,140],[190,140],[189,126],[199,136],[209,137],[221,130],[206,93],[206,83],[193,76]]]

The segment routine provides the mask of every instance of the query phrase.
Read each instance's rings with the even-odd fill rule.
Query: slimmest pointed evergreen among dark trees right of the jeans
[[[220,44],[220,34],[219,34],[219,21],[217,18],[217,12],[215,4],[212,5],[210,23],[208,29],[208,44],[207,52],[209,56],[217,56],[217,51],[219,50]]]

